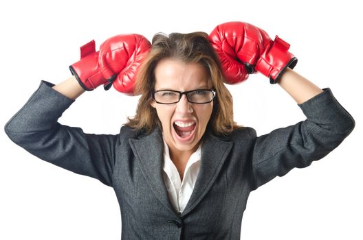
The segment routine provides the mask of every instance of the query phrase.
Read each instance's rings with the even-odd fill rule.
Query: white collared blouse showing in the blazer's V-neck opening
[[[163,178],[171,204],[178,213],[182,213],[192,195],[195,181],[201,165],[201,144],[189,158],[184,171],[183,181],[180,180],[179,172],[170,159],[169,148],[164,141],[164,164]]]

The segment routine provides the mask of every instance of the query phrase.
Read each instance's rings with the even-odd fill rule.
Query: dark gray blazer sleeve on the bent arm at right
[[[294,167],[311,165],[338,147],[355,126],[353,117],[329,88],[298,105],[305,121],[256,138],[252,152],[252,175],[257,189]]]

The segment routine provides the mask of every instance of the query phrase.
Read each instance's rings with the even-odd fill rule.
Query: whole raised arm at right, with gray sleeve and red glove
[[[285,89],[307,117],[263,136],[256,137],[252,131],[253,189],[326,156],[353,130],[353,117],[329,88],[323,91],[292,70],[297,58],[278,36],[272,40],[250,23],[230,22],[217,26],[210,42],[219,54],[226,82],[234,84],[246,80],[250,73],[261,73],[271,84]]]

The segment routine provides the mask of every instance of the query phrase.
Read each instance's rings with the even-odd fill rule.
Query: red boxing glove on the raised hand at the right
[[[276,83],[287,67],[293,69],[297,58],[287,51],[289,44],[270,36],[259,27],[243,22],[218,25],[210,34],[210,42],[221,59],[228,84],[242,82],[256,71]]]

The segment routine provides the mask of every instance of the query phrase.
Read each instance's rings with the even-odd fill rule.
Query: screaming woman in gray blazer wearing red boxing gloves
[[[157,34],[147,56],[141,36],[110,38],[98,52],[90,43],[71,66],[74,77],[42,82],[5,132],[39,158],[113,187],[122,239],[239,239],[250,191],[327,155],[354,120],[329,88],[292,70],[296,58],[279,38],[246,23],[216,29],[210,36]],[[236,66],[222,55],[230,40]],[[131,93],[141,63],[136,115],[120,134],[85,134],[57,122],[74,99],[101,84]],[[238,82],[256,71],[292,95],[307,119],[259,137],[236,125],[223,81],[234,82],[231,72]]]

